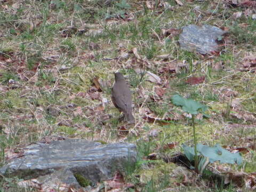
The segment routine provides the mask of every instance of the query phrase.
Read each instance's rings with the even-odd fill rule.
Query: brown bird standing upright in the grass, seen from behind
[[[121,73],[115,73],[115,83],[111,90],[111,99],[114,106],[123,112],[124,119],[129,124],[135,123],[132,115],[132,93]]]

